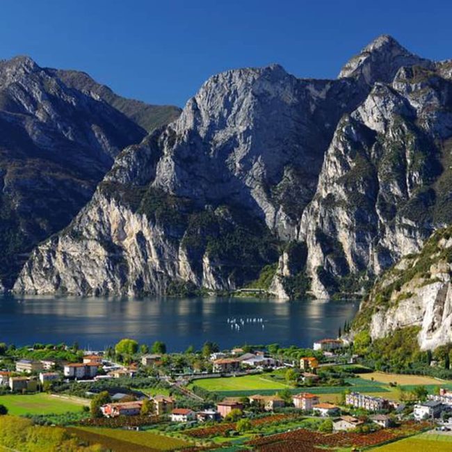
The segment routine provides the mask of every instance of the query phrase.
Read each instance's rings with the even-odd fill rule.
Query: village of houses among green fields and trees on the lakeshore
[[[40,344],[19,351],[3,346],[0,357],[3,411],[16,414],[16,404],[33,397],[76,401],[76,417],[62,421],[76,428],[152,431],[218,449],[223,442],[252,448],[257,438],[293,432],[399,439],[452,430],[451,383],[417,377],[413,381],[426,384],[409,390],[385,382],[385,374],[359,364],[343,339],[321,339],[309,349],[272,344],[219,350],[206,343],[198,352],[166,353],[158,341],[150,348],[122,339],[96,352]],[[408,376],[398,378],[408,382]],[[33,417],[33,404],[20,414],[39,417]],[[45,414],[39,419],[47,422]],[[58,419],[49,415],[52,424]]]

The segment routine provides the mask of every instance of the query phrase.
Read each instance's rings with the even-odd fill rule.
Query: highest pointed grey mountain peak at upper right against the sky
[[[380,35],[360,54],[354,56],[339,73],[339,79],[354,78],[373,85],[376,81],[390,83],[402,66],[429,66],[429,60],[412,54],[390,35]]]

